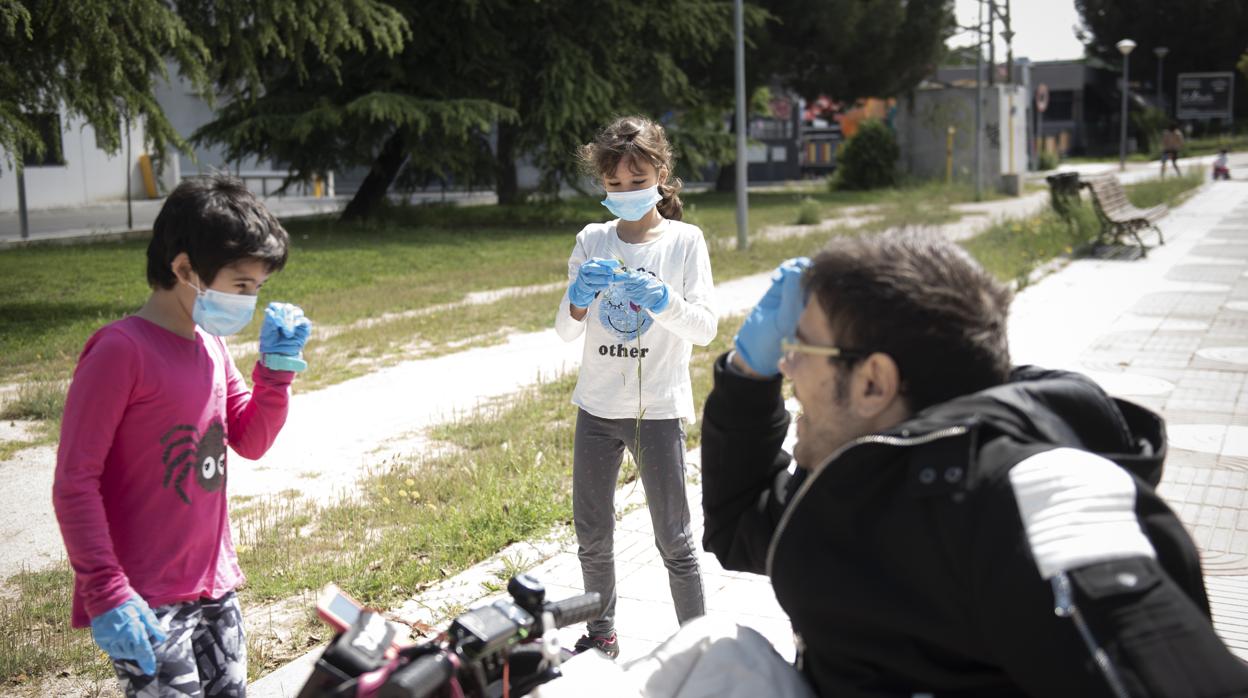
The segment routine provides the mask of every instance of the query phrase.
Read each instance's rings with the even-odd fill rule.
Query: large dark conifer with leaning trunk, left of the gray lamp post
[[[346,219],[369,215],[396,182],[492,181],[522,197],[528,155],[542,189],[575,181],[575,147],[612,116],[671,112],[673,140],[714,142],[689,67],[731,40],[728,0],[393,0],[412,27],[394,55],[343,59],[338,75],[281,62],[263,91],[228,105],[196,139],[231,156],[288,162],[298,177],[366,165]]]

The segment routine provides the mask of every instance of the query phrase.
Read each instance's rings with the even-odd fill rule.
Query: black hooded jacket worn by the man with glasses
[[[1248,696],[1248,671],[1213,632],[1196,546],[1153,491],[1157,415],[1082,376],[1025,367],[791,477],[787,426],[779,378],[716,361],[703,544],[725,568],[771,577],[821,696],[1114,696],[1114,677],[1129,696]],[[1123,516],[1156,551],[1068,571],[1090,638],[1055,612],[1010,478],[1058,447],[1132,473]],[[1070,455],[1087,460],[1048,457]]]

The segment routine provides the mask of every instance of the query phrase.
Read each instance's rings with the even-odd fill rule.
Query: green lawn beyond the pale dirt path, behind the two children
[[[749,226],[755,238],[764,227],[792,224],[799,211],[805,220],[821,220],[866,204],[879,206],[881,225],[929,225],[952,220],[948,206],[972,196],[966,186],[938,184],[874,192],[809,186],[751,192]],[[718,280],[766,271],[784,258],[778,255],[810,250],[810,242],[758,242],[738,252],[734,195],[693,194],[685,202],[685,219],[706,233]],[[456,302],[469,291],[560,282],[575,232],[607,217],[597,200],[577,197],[549,205],[397,206],[381,222],[357,225],[293,221],[287,226],[290,263],[266,285],[261,302],[297,302],[314,323],[342,327]],[[130,240],[0,251],[0,383],[29,385],[21,400],[4,408],[9,418],[44,420],[46,433],[59,430],[59,386],[71,376],[87,337],[147,297],[145,250],[145,241]],[[313,333],[311,368],[300,385],[323,387],[398,361],[497,342],[507,330],[545,327],[557,300],[558,292],[508,298],[329,338]],[[237,341],[253,341],[258,323]]]

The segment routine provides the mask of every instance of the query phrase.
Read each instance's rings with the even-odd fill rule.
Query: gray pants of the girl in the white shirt
[[[680,420],[641,420],[641,455],[636,420],[604,420],[577,412],[573,445],[572,509],[578,557],[587,592],[607,599],[602,618],[589,622],[589,634],[615,632],[615,482],[624,450],[641,465],[641,486],[650,507],[654,542],[668,568],[671,601],[681,624],[706,613],[701,573],[689,527],[685,497],[685,427]]]

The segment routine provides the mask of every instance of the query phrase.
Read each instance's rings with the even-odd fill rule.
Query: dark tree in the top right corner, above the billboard
[[[1248,4],[1227,0],[1075,0],[1082,19],[1087,52],[1111,66],[1122,65],[1116,44],[1132,39],[1131,75],[1151,81],[1157,75],[1153,49],[1169,52],[1162,64],[1163,89],[1173,94],[1179,72],[1234,70],[1244,51]],[[1236,111],[1248,106],[1248,90],[1236,90]],[[1173,104],[1173,102],[1172,102]]]

